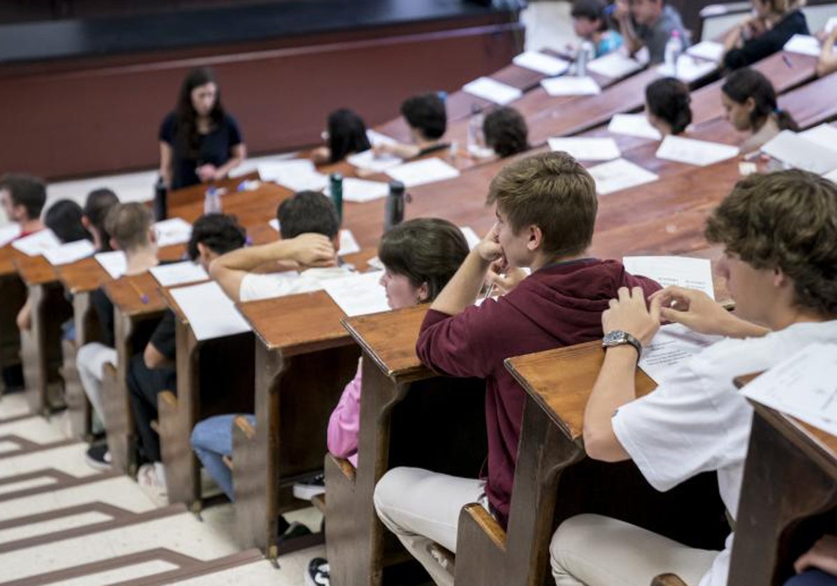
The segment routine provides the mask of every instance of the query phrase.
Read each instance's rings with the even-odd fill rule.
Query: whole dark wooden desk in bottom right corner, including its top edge
[[[762,404],[753,408],[729,583],[778,586],[799,555],[834,533],[837,438]]]

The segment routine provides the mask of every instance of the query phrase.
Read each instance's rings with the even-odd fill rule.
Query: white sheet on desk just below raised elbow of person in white
[[[178,287],[171,292],[198,340],[234,336],[253,329],[236,309],[233,300],[213,280]]]

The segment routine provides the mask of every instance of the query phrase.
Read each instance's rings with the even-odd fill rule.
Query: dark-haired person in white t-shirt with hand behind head
[[[276,218],[280,240],[234,250],[210,266],[213,279],[234,301],[320,290],[324,280],[349,274],[337,266],[340,218],[331,199],[318,192],[296,193],[280,203]],[[269,265],[280,272],[253,272]]]

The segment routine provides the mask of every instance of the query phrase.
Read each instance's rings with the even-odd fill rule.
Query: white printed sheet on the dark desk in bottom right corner
[[[810,344],[742,388],[745,397],[837,435],[837,344]]]

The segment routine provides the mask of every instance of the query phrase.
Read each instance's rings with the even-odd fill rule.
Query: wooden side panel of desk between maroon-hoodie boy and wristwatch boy
[[[526,397],[517,454],[508,531],[482,506],[466,507],[460,514],[457,584],[546,583],[558,480],[584,453]]]

